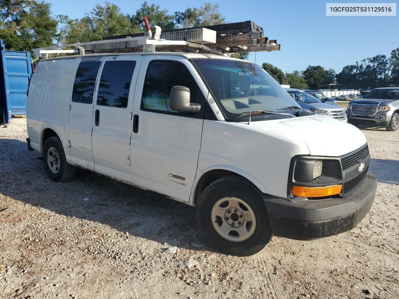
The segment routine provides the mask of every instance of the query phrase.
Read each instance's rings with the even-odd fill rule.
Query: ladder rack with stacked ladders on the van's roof
[[[161,31],[159,26],[154,26],[155,33],[153,36],[147,18],[144,17],[143,20],[147,29],[146,33],[108,36],[101,41],[57,45],[33,49],[32,51],[35,57],[48,58],[51,54],[62,53],[85,55],[167,51],[229,56],[232,53],[240,52],[280,50],[280,44],[277,43],[277,40],[269,40],[265,37],[263,28],[252,21],[183,28],[164,32]]]

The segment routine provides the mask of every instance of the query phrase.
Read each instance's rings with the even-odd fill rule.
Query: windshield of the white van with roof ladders
[[[280,84],[259,65],[227,59],[193,59],[193,62],[227,119],[250,110],[281,112],[282,108],[297,106]]]

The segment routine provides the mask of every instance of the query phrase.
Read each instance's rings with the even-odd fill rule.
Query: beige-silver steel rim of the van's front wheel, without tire
[[[231,242],[247,240],[256,227],[253,210],[237,197],[219,199],[212,207],[211,221],[216,232]]]

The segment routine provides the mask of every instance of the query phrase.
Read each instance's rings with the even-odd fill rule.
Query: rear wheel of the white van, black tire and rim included
[[[55,182],[68,181],[75,175],[76,168],[67,163],[64,148],[58,137],[50,137],[44,142],[43,163],[47,175]]]

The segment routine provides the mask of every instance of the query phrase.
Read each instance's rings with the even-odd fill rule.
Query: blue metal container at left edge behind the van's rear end
[[[26,114],[32,58],[29,51],[5,51],[2,40],[0,47],[0,124],[8,124],[12,115]]]

